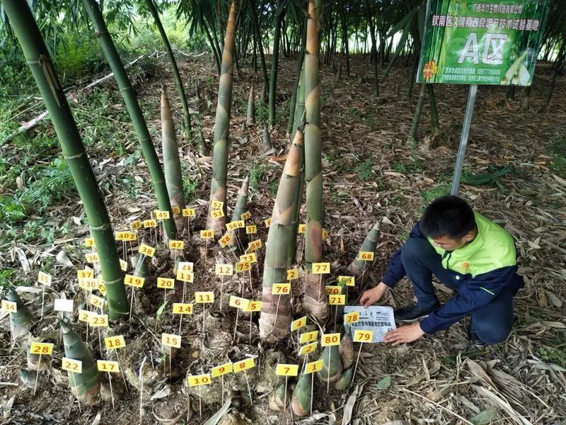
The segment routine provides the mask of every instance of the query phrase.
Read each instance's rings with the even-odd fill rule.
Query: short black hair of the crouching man
[[[458,196],[441,196],[430,203],[420,219],[419,227],[426,237],[458,239],[475,229],[473,210]]]

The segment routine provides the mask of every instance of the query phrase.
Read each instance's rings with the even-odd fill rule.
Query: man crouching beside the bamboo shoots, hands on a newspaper
[[[516,272],[512,237],[473,212],[465,200],[443,196],[427,207],[407,242],[391,257],[381,283],[366,290],[360,304],[369,307],[406,275],[417,303],[395,310],[395,319],[416,323],[388,332],[386,342],[412,342],[470,315],[468,336],[480,348],[505,341],[511,331],[513,297],[524,285]],[[434,293],[433,274],[456,290],[444,305]]]

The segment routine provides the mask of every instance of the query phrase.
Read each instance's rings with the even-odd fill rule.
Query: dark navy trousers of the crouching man
[[[465,279],[464,275],[446,270],[441,256],[426,239],[411,237],[401,249],[401,260],[407,276],[412,282],[417,302],[433,305],[437,302],[432,286],[432,275],[444,285],[458,290]],[[505,341],[513,326],[512,290],[504,288],[489,304],[470,312],[472,329],[486,344]]]

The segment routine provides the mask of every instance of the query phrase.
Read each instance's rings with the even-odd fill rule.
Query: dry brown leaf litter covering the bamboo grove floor
[[[260,227],[258,237],[265,242],[267,231],[262,227],[262,220],[271,214],[282,157],[286,154],[285,127],[295,64],[292,58],[281,63],[278,119],[282,125],[272,129],[275,148],[265,152],[261,126],[243,129],[241,125],[245,119],[250,84],[255,83],[256,91],[260,91],[258,87],[261,86],[260,74],[254,74],[253,69],[243,62],[241,60],[242,69],[236,72],[234,84],[229,200],[230,206],[233,206],[241,180],[249,174],[249,210]],[[200,123],[204,137],[210,141],[217,89],[212,62],[205,56],[183,57],[181,69],[190,94],[193,123]],[[180,125],[180,102],[176,98],[168,65],[163,57],[152,58],[132,68],[130,74],[150,131],[156,145],[159,145],[159,88],[163,79],[170,87],[178,129]],[[345,75],[337,77],[330,67],[321,67],[325,227],[330,233],[325,240],[325,254],[333,264],[336,276],[345,271],[352,261],[366,232],[374,222],[380,221],[381,239],[373,271],[368,276],[374,283],[379,282],[388,257],[407,237],[424,205],[449,190],[467,88],[435,86],[441,135],[437,140],[431,139],[428,107],[425,106],[418,133],[422,147],[412,150],[406,139],[418,89],[409,100],[409,74],[410,69],[399,63],[382,82],[381,97],[376,102],[371,67],[363,57],[352,59],[349,78]],[[287,421],[341,423],[343,416],[351,414],[352,422],[357,424],[564,423],[566,80],[564,77],[558,79],[553,102],[550,108],[546,108],[544,98],[550,77],[550,67],[540,64],[529,109],[521,108],[521,90],[517,90],[516,100],[509,101],[504,96],[504,89],[480,86],[461,187],[461,196],[476,210],[504,225],[516,240],[519,270],[525,276],[526,286],[515,299],[517,319],[509,339],[489,351],[474,351],[467,341],[466,323],[463,322],[408,346],[364,346],[357,373],[358,386],[352,387],[351,396],[333,391],[327,396],[325,388],[317,387],[315,407],[320,415],[314,416],[311,421],[301,422],[290,417]],[[197,81],[200,100],[195,94]],[[88,82],[76,82],[76,87]],[[115,229],[126,229],[129,220],[146,217],[155,208],[148,173],[127,113],[113,81],[107,81],[93,91],[81,92],[77,99],[72,106],[112,222]],[[32,109],[21,119],[30,119],[40,111],[40,107]],[[267,110],[258,105],[258,120],[265,118]],[[194,225],[198,229],[202,228],[206,214],[211,159],[200,157],[192,142],[182,137],[179,141],[185,168],[185,195],[190,205],[197,207]],[[30,148],[30,143],[40,143],[39,148],[34,145],[39,154],[37,149]],[[56,159],[46,161],[46,158],[57,157],[53,130],[50,125],[40,125],[25,138],[18,138],[0,149],[3,158],[1,194],[16,196],[28,191],[25,203],[10,205],[12,215],[6,215],[4,210],[0,245],[3,282],[33,285],[37,271],[43,269],[55,276],[54,289],[59,293],[63,291],[67,297],[74,296],[75,270],[83,266],[85,249],[81,242],[88,236],[88,227],[72,183],[59,181],[61,177],[57,174],[57,166],[63,172],[64,165]],[[30,157],[30,154],[35,157]],[[27,169],[14,172],[22,163]],[[30,189],[36,187],[35,182],[45,179],[50,179],[54,185],[52,191],[30,193]],[[45,196],[48,198],[42,198]],[[13,212],[15,208],[23,208],[21,214],[25,218],[11,224],[10,218],[18,212]],[[33,222],[39,223],[37,228],[30,225]],[[187,256],[198,259],[200,241],[194,237],[191,240]],[[302,242],[301,237],[299,242]],[[224,254],[214,250],[209,255],[211,258],[205,264],[210,266],[215,258]],[[159,259],[154,264],[155,276],[171,268],[171,259],[166,254],[162,253]],[[260,263],[261,260],[260,256]],[[204,290],[217,285],[212,273],[210,275],[203,276],[195,283],[194,289]],[[250,288],[248,297],[253,297],[253,290],[257,294],[260,288],[259,276],[254,275],[253,279],[255,288]],[[238,285],[238,280],[226,282],[226,290],[236,291]],[[438,289],[444,300],[451,296],[448,288],[439,285]],[[37,313],[40,295],[37,290],[33,291],[34,288],[30,288],[24,297]],[[298,309],[300,288],[294,287],[294,293],[294,305]],[[153,291],[140,298],[140,314],[145,312],[146,316],[135,319],[129,329],[122,328],[126,329],[124,331],[130,339],[144,341],[142,346],[150,353],[151,349],[155,351],[151,334],[158,336],[161,332],[155,330],[157,326],[173,329],[178,324],[166,315],[158,322],[155,312],[161,297],[162,292]],[[403,281],[388,295],[386,302],[399,306],[411,300],[410,283]],[[202,315],[198,313],[187,320],[185,335],[200,335]],[[233,316],[229,316],[227,322],[232,323],[232,320]],[[33,390],[26,389],[18,378],[20,368],[25,366],[25,356],[10,349],[9,325],[5,315],[0,326],[3,331],[0,400],[4,408],[0,423],[90,424],[96,420],[98,413],[101,423],[114,421],[125,424],[137,418],[139,400],[135,390],[124,395],[114,412],[110,403],[83,408],[79,412],[76,402],[71,404],[71,396],[64,386],[51,386],[45,382],[37,397],[33,397]],[[268,365],[269,359],[279,356],[280,352],[261,348],[256,338],[255,323],[252,327],[251,344],[248,345],[246,328],[241,328],[238,338],[241,346],[234,349],[259,353],[260,358],[265,360],[262,360],[263,363],[260,361],[259,368],[267,370],[262,365]],[[204,336],[210,345],[211,335]],[[294,346],[291,346],[282,351],[288,353],[293,349]],[[194,358],[191,357],[198,357],[200,350],[199,344],[187,347],[186,355],[175,364],[178,370],[171,382],[166,383],[167,376],[156,378],[148,395],[156,397],[147,402],[149,410],[144,416],[144,423],[155,423],[158,421],[156,418],[173,418],[178,414],[182,416],[179,420],[185,418],[185,390],[180,378],[192,368]],[[155,355],[158,356],[158,353]],[[291,360],[294,360],[292,356]],[[134,363],[138,361],[137,358],[132,360]],[[55,384],[65,379],[56,372],[45,378]],[[270,378],[263,376],[252,383],[256,385],[258,399],[253,407],[242,404],[240,412],[251,423],[283,423],[279,414],[266,410],[268,397],[260,391],[262,386],[265,391],[266,385],[274,385]],[[246,388],[241,388],[241,391],[245,395]],[[55,397],[61,403],[53,403]],[[207,405],[203,420],[219,407],[219,403]],[[193,417],[195,421],[198,418],[197,414]],[[240,423],[238,418],[237,415],[226,416],[223,420],[236,424]]]

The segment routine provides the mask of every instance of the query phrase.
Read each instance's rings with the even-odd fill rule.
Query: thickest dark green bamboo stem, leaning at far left
[[[124,276],[120,269],[120,256],[116,249],[108,211],[98,189],[91,164],[88,162],[88,155],[84,149],[79,129],[76,127],[71,108],[59,84],[49,52],[29,7],[18,0],[4,0],[2,5],[45,101],[61,143],[65,161],[69,165],[77,191],[79,191],[100,257],[100,269],[106,285],[110,319],[117,319],[129,311]]]

